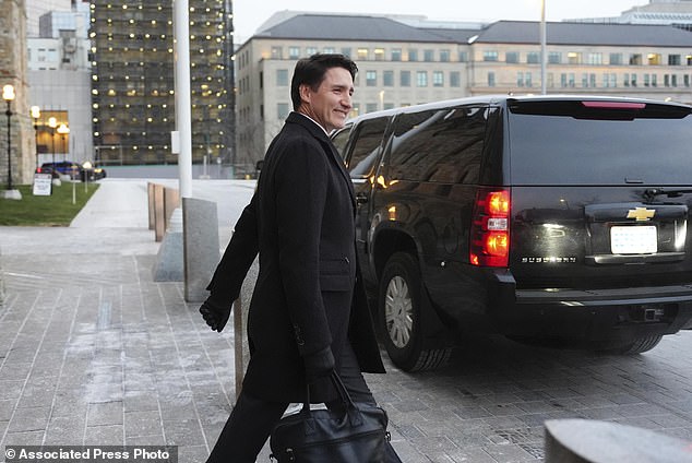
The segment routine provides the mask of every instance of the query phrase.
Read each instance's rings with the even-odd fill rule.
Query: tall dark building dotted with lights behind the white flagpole
[[[190,0],[192,162],[234,153],[232,3]],[[93,138],[100,164],[176,164],[170,0],[91,4]]]

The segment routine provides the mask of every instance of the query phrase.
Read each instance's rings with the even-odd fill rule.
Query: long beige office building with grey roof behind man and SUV
[[[480,94],[540,93],[538,22],[427,22],[283,12],[236,54],[239,162],[261,159],[291,110],[296,61],[341,52],[359,67],[353,115]],[[692,103],[692,33],[671,25],[548,23],[547,93]]]

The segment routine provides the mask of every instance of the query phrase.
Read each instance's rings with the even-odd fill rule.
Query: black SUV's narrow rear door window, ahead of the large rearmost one
[[[368,178],[375,167],[380,157],[380,143],[386,130],[389,117],[363,120],[358,124],[358,132],[347,163],[350,178]]]

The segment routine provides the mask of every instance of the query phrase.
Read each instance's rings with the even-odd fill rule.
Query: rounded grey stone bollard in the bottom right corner
[[[619,423],[546,422],[546,463],[692,462],[692,442]]]

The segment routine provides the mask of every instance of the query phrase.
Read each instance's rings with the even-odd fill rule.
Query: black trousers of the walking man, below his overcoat
[[[344,354],[342,354],[338,375],[354,402],[375,403],[360,372],[358,360],[350,344],[347,344]],[[264,442],[288,405],[284,402],[256,399],[241,391],[206,462],[254,463],[258,453],[264,447]],[[387,449],[387,453],[390,452],[393,452],[393,449]]]

